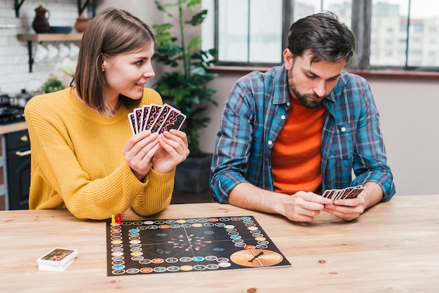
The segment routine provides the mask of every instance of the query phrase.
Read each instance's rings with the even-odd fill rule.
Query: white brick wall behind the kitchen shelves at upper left
[[[29,56],[27,42],[18,41],[17,34],[33,34],[32,22],[35,17],[35,8],[39,5],[50,11],[49,23],[51,26],[73,26],[78,17],[76,0],[25,0],[20,8],[20,17],[15,18],[13,0],[0,1],[0,91],[1,93],[19,93],[21,88],[38,90],[48,79],[49,74],[62,78],[62,73],[55,70],[58,60],[42,61],[33,64],[32,73],[29,73]],[[4,25],[13,25],[13,28],[2,28]],[[73,30],[74,31],[74,30]],[[47,48],[48,43],[43,43]],[[58,48],[60,42],[53,42]],[[65,43],[69,46],[69,43]],[[76,45],[79,45],[76,42]],[[33,52],[36,43],[33,43]]]

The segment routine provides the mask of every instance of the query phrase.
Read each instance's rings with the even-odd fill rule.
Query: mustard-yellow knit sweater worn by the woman
[[[144,89],[141,104],[162,104]],[[108,219],[132,207],[161,212],[170,203],[175,170],[150,170],[140,182],[123,158],[130,110],[109,118],[88,109],[72,88],[32,97],[25,117],[31,142],[30,209],[66,208],[79,219]]]

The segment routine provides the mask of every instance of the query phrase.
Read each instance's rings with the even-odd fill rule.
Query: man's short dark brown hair
[[[353,62],[356,36],[339,22],[335,13],[325,11],[294,22],[288,33],[288,49],[292,55],[302,56],[311,50],[311,63],[320,61]]]

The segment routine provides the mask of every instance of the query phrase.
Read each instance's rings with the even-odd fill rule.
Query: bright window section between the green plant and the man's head
[[[215,46],[222,64],[279,64],[283,50],[284,0],[203,1],[204,8],[215,11],[215,38],[212,28],[203,25],[203,47]],[[267,13],[270,11],[270,13]],[[290,22],[290,21],[289,21]],[[206,31],[206,32],[205,32]],[[208,46],[205,46],[205,39]],[[214,45],[215,43],[215,45]]]

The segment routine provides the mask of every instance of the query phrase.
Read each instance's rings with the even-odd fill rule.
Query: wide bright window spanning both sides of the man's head
[[[292,22],[332,11],[356,33],[360,69],[439,71],[439,1],[203,0],[203,5],[215,11],[206,22],[210,27],[203,27],[203,46],[207,41],[217,48],[220,65],[281,64]]]

